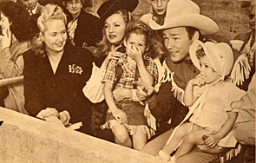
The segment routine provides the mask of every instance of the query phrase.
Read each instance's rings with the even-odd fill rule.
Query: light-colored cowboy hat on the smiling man
[[[213,35],[218,32],[218,25],[207,16],[200,15],[199,6],[191,0],[170,0],[167,3],[167,16],[161,26],[153,20],[149,26],[154,30],[176,27],[194,27],[202,35]]]

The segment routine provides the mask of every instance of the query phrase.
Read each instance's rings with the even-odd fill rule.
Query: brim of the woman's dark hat
[[[128,10],[130,12],[133,12],[137,7],[138,3],[138,0],[117,0],[110,6],[110,8],[106,12],[104,12],[102,16],[100,16],[97,21],[95,21],[95,23],[93,23],[93,25],[96,28],[102,28],[108,16],[111,16],[118,10]]]

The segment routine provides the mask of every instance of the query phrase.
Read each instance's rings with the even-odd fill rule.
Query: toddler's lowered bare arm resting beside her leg
[[[205,143],[208,147],[214,147],[222,138],[228,134],[232,128],[233,124],[236,121],[238,113],[236,112],[228,112],[228,118],[226,120],[226,123],[220,128],[220,131],[216,134],[207,134],[207,139],[205,140]]]

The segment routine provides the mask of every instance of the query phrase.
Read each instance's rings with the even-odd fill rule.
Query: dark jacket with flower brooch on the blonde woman
[[[24,59],[25,108],[36,116],[42,109],[56,108],[67,110],[70,122],[82,121],[80,131],[87,133],[90,121],[90,101],[83,95],[82,88],[89,80],[92,71],[93,55],[87,49],[67,43],[62,59],[53,73],[48,56],[35,55],[29,50]],[[76,66],[82,68],[72,71]]]

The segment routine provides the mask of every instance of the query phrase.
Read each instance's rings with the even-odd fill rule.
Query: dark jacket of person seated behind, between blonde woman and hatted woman
[[[102,30],[95,29],[91,24],[98,18],[93,16],[84,10],[77,17],[77,27],[75,29],[75,45],[82,47],[83,43],[87,46],[95,46],[96,42],[102,40]]]

